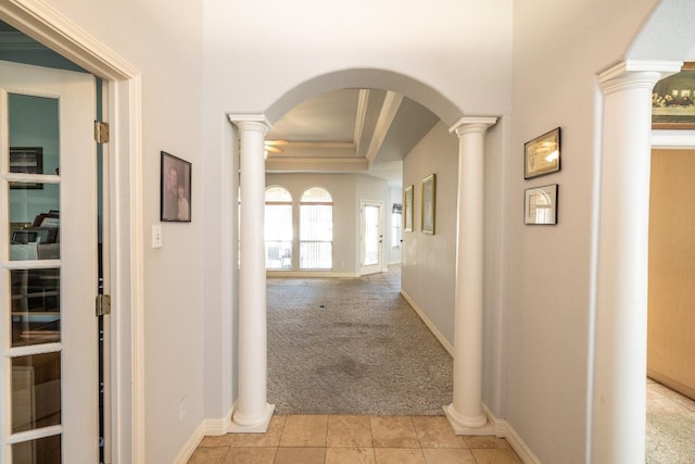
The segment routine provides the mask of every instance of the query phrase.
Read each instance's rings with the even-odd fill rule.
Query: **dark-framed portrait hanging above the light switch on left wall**
[[[191,222],[191,163],[162,152],[160,220]]]

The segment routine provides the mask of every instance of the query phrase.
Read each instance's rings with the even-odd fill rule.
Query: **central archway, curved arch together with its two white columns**
[[[256,297],[258,291],[265,289],[265,275],[258,272],[260,263],[264,263],[264,256],[256,255],[254,252],[262,247],[255,242],[257,238],[250,238],[251,230],[247,237],[253,243],[244,243],[243,231],[243,224],[263,221],[263,212],[260,208],[249,204],[249,199],[255,198],[264,188],[258,161],[263,158],[263,139],[270,127],[270,122],[278,121],[289,109],[312,96],[341,88],[380,88],[397,91],[428,108],[450,126],[450,131],[455,131],[458,136],[454,402],[444,407],[444,412],[457,434],[492,434],[491,427],[484,427],[488,418],[482,411],[481,402],[484,197],[482,155],[484,133],[488,127],[496,123],[496,117],[460,117],[462,112],[437,90],[410,77],[381,70],[346,70],[318,76],[288,91],[265,114],[229,115],[229,120],[239,128],[241,139],[241,196],[244,198],[240,220],[242,224],[241,266],[243,268],[245,265],[247,268],[253,269],[256,276],[252,278],[253,281],[244,277],[245,285],[240,286],[240,333],[245,328],[254,330],[255,341],[244,341],[251,337],[240,336],[239,352],[242,353],[242,358],[239,361],[239,401],[232,414],[231,429],[235,431],[264,430],[273,414],[273,406],[266,401],[267,367],[265,363],[263,368],[256,364],[256,371],[260,373],[253,373],[250,367],[253,363],[266,358],[265,328],[260,330],[260,327],[265,326],[266,300],[265,297],[245,297],[251,289]],[[256,203],[255,199],[252,201]],[[257,203],[262,204],[262,202]],[[243,353],[249,353],[245,359]],[[241,378],[242,376],[255,376],[255,380]],[[263,393],[258,394],[260,391]]]

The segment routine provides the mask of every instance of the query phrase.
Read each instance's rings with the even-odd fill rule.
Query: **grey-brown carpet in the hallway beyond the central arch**
[[[452,359],[400,275],[268,278],[268,401],[278,414],[441,415]]]

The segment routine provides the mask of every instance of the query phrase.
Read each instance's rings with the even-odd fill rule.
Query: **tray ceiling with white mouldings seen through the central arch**
[[[336,90],[307,100],[266,135],[271,173],[364,173],[402,184],[403,158],[439,122],[425,106],[380,89]],[[287,143],[285,143],[287,141]]]

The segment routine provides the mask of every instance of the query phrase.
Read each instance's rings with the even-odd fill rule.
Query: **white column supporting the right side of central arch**
[[[444,406],[456,435],[492,435],[482,411],[483,141],[496,117],[463,117],[458,136],[458,226],[454,314],[454,401]]]

